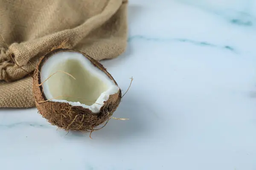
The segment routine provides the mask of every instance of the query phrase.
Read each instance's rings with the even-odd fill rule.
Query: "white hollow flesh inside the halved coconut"
[[[65,71],[76,79],[63,72],[54,74],[56,71]],[[104,101],[119,91],[113,80],[96,68],[83,54],[75,51],[53,54],[44,62],[40,72],[41,82],[54,74],[43,84],[44,95],[49,101],[82,106],[93,113],[99,112]]]

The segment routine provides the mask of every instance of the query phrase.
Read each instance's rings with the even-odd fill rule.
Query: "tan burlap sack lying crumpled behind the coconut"
[[[119,56],[126,12],[126,0],[0,0],[0,108],[35,106],[32,78],[17,65],[33,73],[39,57],[64,40],[96,60]]]

